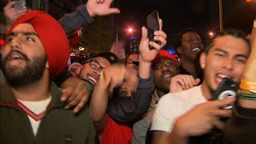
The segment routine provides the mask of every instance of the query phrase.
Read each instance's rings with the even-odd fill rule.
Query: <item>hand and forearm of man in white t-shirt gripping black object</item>
[[[224,124],[219,118],[230,117],[231,110],[222,109],[234,102],[234,97],[201,103],[178,118],[174,124],[177,134],[182,137],[206,134],[214,126],[222,129]]]

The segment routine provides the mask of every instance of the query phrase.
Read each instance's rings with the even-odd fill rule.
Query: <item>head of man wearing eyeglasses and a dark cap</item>
[[[89,60],[84,62],[83,65],[74,65],[76,67],[71,66],[70,73],[73,74],[73,76],[82,78],[95,86],[98,82],[99,74],[102,69],[117,62],[118,57],[115,54],[111,52],[104,52],[89,58]],[[74,67],[74,69],[72,67]],[[71,71],[72,69],[73,71]]]

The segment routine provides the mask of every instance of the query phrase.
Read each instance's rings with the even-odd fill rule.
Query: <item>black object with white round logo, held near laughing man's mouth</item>
[[[238,91],[238,83],[233,82],[230,78],[224,78],[222,82],[219,84],[217,90],[212,97],[212,100],[229,98],[231,96],[235,96]],[[223,109],[231,109],[232,106],[223,107]]]

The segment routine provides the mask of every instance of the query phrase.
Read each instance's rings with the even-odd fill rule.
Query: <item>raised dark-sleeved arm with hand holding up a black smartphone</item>
[[[116,97],[111,101],[108,108],[108,114],[116,122],[133,124],[146,113],[150,106],[151,96],[154,90],[154,79],[151,70],[151,62],[154,60],[159,50],[166,45],[166,34],[162,31],[162,20],[159,19],[159,30],[155,33],[155,40],[161,42],[161,45],[155,42],[149,42],[147,30],[142,27],[142,39],[139,45],[139,84],[133,98]],[[154,50],[150,50],[153,46]]]

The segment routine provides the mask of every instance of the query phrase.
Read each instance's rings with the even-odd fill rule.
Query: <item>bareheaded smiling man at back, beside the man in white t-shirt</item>
[[[181,62],[179,74],[190,74],[194,78],[202,78],[198,57],[203,50],[203,45],[198,32],[193,29],[182,31],[178,34],[174,47]]]

